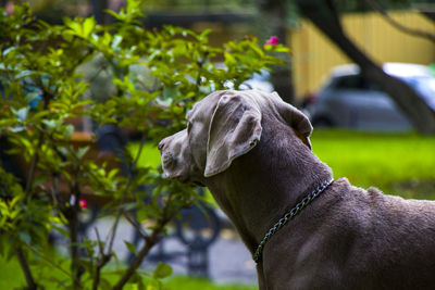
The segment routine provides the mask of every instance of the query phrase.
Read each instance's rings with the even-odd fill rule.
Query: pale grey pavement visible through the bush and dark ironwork
[[[101,238],[104,238],[109,232],[113,219],[100,219],[96,227],[99,230]],[[117,239],[114,242],[114,250],[119,253],[119,259],[126,259],[128,251],[124,244],[124,240],[133,240],[133,227],[123,220],[119,227]],[[95,239],[94,226],[89,228],[88,236]],[[164,241],[164,252],[186,253],[187,248],[176,238],[166,238]],[[156,253],[154,249],[152,253]],[[156,262],[146,261],[144,267],[152,265]],[[175,274],[187,274],[187,257],[178,255],[176,259],[165,262],[173,267]],[[250,253],[239,240],[237,234],[231,228],[225,227],[216,241],[209,248],[209,276],[217,282],[241,282],[254,285],[257,275],[254,263],[251,260]]]

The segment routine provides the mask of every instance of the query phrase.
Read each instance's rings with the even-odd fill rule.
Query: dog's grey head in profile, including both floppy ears
[[[264,114],[294,128],[311,149],[309,119],[276,92],[216,91],[194,105],[186,129],[160,142],[164,173],[186,182],[224,172],[260,141]]]

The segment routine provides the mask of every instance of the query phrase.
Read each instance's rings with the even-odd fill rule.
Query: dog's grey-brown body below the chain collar
[[[345,178],[324,194],[264,253],[271,289],[435,289],[435,202]]]

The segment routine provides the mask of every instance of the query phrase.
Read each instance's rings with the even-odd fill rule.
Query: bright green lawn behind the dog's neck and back
[[[435,199],[434,136],[319,130],[311,141],[335,178],[406,198]]]

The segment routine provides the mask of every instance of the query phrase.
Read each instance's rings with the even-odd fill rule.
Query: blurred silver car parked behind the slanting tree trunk
[[[427,66],[385,63],[385,73],[410,85],[435,111],[435,76]],[[313,126],[406,131],[413,126],[395,101],[360,74],[356,64],[336,66],[309,109]]]

